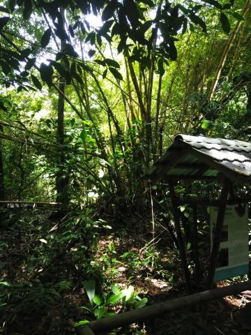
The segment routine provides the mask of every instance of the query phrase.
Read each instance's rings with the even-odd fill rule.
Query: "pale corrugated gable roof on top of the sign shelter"
[[[203,136],[177,135],[148,173],[150,179],[230,178],[251,181],[251,144]]]

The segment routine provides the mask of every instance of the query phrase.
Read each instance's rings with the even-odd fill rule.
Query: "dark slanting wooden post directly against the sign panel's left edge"
[[[229,194],[230,182],[225,179],[220,194],[220,207],[218,209],[217,221],[215,225],[215,234],[213,237],[213,247],[211,251],[209,268],[208,268],[208,281],[207,289],[210,290],[213,287],[213,277],[215,275],[215,269],[217,265],[218,253],[220,248],[220,238],[222,234],[222,226],[225,218],[225,211],[227,207],[227,196]]]

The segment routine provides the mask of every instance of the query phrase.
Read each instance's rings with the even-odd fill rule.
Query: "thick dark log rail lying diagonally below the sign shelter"
[[[240,292],[250,289],[251,281],[245,281],[243,283],[236,283],[234,285],[226,286],[225,288],[216,288],[214,290],[199,292],[195,293],[194,295],[187,295],[186,297],[179,297],[169,301],[161,302],[159,304],[153,304],[144,308],[135,309],[134,311],[117,314],[110,318],[91,321],[87,325],[93,333],[98,335],[100,333],[109,332],[112,329],[130,325],[135,322],[149,320],[151,318],[155,318],[158,315],[178,311],[181,308],[188,308],[190,306],[199,305],[207,301],[227,297],[228,295],[236,295]],[[79,326],[77,328],[78,335],[93,335],[87,331],[88,329],[86,330],[86,327],[84,326]]]

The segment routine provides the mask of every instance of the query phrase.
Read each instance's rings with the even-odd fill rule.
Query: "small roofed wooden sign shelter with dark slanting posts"
[[[241,207],[250,202],[250,195],[245,195],[245,198],[236,196],[233,184],[238,184],[239,187],[251,184],[251,144],[238,140],[177,135],[165,155],[154,163],[147,175],[151,181],[168,182],[174,214],[174,227],[188,292],[191,292],[190,271],[181,230],[181,211],[178,207],[182,204],[189,204],[194,209],[192,248],[195,251],[195,274],[197,277],[200,276],[201,271],[197,240],[197,205],[204,204],[219,208],[208,269],[207,288],[210,289],[213,285],[227,204],[238,204]],[[220,198],[218,200],[199,197],[178,198],[174,188],[176,181],[196,180],[215,181],[221,184]]]

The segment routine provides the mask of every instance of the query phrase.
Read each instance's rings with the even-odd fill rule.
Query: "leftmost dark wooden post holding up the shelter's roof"
[[[170,196],[171,196],[171,201],[172,201],[172,211],[174,214],[174,227],[175,227],[176,235],[177,235],[176,237],[178,241],[178,249],[181,255],[181,264],[183,267],[183,274],[185,277],[185,287],[188,293],[191,293],[192,289],[191,289],[191,283],[190,283],[190,271],[188,269],[188,260],[185,254],[185,244],[184,244],[182,232],[181,232],[181,223],[179,220],[179,212],[178,212],[178,207],[177,207],[177,202],[176,202],[176,195],[174,191],[173,181],[169,181],[169,191],[170,191]]]

